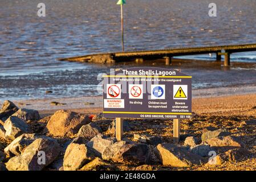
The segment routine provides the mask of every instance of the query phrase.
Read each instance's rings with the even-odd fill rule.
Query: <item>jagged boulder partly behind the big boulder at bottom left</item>
[[[25,148],[34,142],[36,138],[38,137],[35,134],[22,134],[5,148],[5,153],[9,156],[21,155]]]

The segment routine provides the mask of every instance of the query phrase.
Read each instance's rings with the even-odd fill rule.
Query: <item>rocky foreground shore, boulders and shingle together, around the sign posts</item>
[[[5,101],[0,110],[0,171],[4,170],[255,170],[253,116],[193,114],[173,143],[172,121],[126,119],[124,138],[101,114],[58,110],[40,118]],[[44,157],[45,156],[45,157]]]

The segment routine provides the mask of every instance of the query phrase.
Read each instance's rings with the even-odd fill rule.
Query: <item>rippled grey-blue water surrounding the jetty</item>
[[[97,94],[96,77],[108,72],[108,66],[60,62],[56,58],[120,51],[117,0],[44,0],[44,18],[36,15],[39,2],[0,0],[0,100]],[[127,1],[126,50],[256,43],[254,0],[215,0],[215,18],[208,16],[210,2]],[[213,60],[209,55],[188,58]],[[193,76],[195,89],[256,83],[255,52],[234,54],[231,61],[246,64],[225,72],[196,65],[179,68]],[[46,95],[46,90],[54,93]]]

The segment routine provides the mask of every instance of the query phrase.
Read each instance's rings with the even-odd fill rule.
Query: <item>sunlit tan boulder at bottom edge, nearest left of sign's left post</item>
[[[71,143],[65,152],[63,168],[64,171],[75,171],[84,164],[95,159],[95,152],[85,144]]]

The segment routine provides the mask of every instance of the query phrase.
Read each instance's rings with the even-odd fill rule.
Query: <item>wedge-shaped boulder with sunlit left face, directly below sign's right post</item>
[[[202,162],[201,156],[189,152],[185,147],[178,147],[171,143],[157,145],[156,155],[164,166],[190,167]]]

